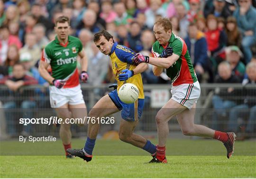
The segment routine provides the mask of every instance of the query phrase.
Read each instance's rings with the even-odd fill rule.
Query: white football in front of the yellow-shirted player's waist
[[[124,103],[131,104],[138,99],[139,90],[132,83],[123,84],[118,91],[118,96]]]

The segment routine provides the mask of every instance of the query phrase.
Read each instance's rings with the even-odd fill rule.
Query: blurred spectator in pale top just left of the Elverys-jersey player
[[[32,56],[32,65],[34,66],[41,57],[41,49],[37,46],[37,36],[28,33],[25,36],[25,45],[19,50],[19,54],[28,52]]]

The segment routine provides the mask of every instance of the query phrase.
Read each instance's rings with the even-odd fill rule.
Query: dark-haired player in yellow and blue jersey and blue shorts
[[[130,143],[134,146],[144,149],[153,157],[155,156],[156,146],[144,137],[134,134],[136,127],[144,106],[144,92],[141,72],[148,68],[146,63],[134,65],[132,63],[135,54],[126,46],[118,45],[114,42],[113,36],[106,30],[101,30],[94,35],[94,43],[100,49],[101,53],[109,55],[112,62],[112,69],[116,80],[118,81],[118,89],[124,83],[133,83],[139,89],[139,98],[133,104],[123,103],[118,97],[118,89],[113,90],[108,95],[102,97],[89,112],[90,117],[104,117],[110,114],[121,112],[121,122],[119,127],[120,140]],[[95,140],[99,132],[100,124],[89,122],[88,136],[83,149],[68,149],[67,151],[82,158],[85,161],[91,161],[92,150],[94,148]]]

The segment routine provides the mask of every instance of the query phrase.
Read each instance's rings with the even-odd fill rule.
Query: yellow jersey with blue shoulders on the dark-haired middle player
[[[126,81],[119,81],[119,74],[122,70],[128,69],[133,70],[136,68],[136,65],[132,64],[132,59],[134,58],[135,52],[129,49],[126,46],[118,45],[118,43],[114,43],[110,53],[110,59],[112,62],[112,69],[115,75],[116,80],[118,81],[118,89],[125,84],[125,83],[132,83],[137,86],[139,89],[139,97],[140,99],[144,99],[144,92],[143,92],[143,83],[141,74],[136,74],[129,78]]]

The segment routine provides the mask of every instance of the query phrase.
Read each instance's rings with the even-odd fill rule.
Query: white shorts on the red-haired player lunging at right
[[[171,89],[172,99],[184,107],[192,108],[200,97],[201,89],[198,81],[192,84],[181,84]]]

